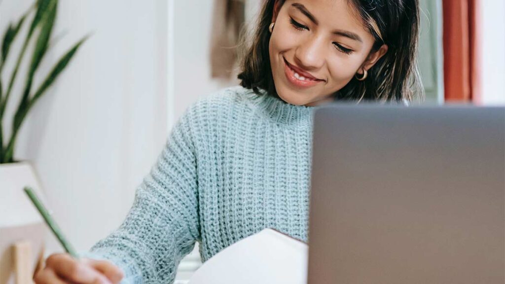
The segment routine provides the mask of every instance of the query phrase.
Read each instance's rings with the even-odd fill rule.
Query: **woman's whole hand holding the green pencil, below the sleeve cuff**
[[[68,254],[53,254],[45,268],[34,277],[36,284],[117,284],[123,271],[106,260],[75,259]]]

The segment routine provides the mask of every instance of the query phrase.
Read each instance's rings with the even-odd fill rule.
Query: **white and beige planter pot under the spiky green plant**
[[[42,198],[40,183],[26,162],[0,164],[0,284],[14,284],[12,246],[27,241],[31,246],[30,271],[43,250],[45,224],[23,191],[30,186]]]

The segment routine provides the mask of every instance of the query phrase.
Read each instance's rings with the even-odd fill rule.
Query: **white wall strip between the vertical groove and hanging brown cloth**
[[[173,98],[173,124],[185,109],[198,98],[217,89],[238,84],[238,80],[211,78],[210,41],[214,1],[173,1],[169,9],[169,33],[172,32],[169,61],[169,96]],[[171,59],[171,60],[170,60]],[[170,127],[171,125],[169,125]]]

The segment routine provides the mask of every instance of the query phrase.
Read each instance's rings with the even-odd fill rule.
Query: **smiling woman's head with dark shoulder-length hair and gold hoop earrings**
[[[411,101],[418,33],[418,1],[270,0],[239,78],[294,105]]]

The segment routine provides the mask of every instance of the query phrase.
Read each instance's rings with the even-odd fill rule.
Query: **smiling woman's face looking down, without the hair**
[[[371,53],[373,35],[348,0],[286,0],[276,3],[269,52],[275,89],[293,105],[332,100],[356,73],[386,53]]]

